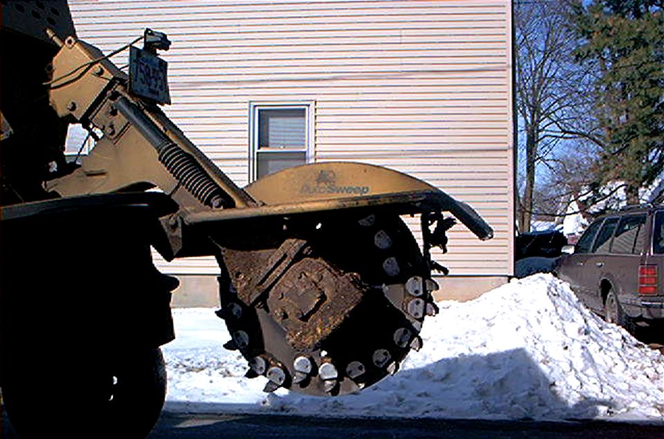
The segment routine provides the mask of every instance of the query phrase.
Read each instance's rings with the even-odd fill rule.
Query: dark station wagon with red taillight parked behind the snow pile
[[[634,332],[664,321],[664,206],[638,206],[593,222],[555,274],[591,310]]]

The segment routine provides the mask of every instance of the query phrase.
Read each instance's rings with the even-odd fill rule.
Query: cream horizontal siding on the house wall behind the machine
[[[145,27],[168,34],[167,114],[239,185],[249,177],[250,102],[313,101],[315,161],[385,165],[468,202],[495,238],[455,226],[441,262],[457,276],[513,273],[509,0],[70,6],[78,35],[106,52]],[[159,265],[217,271],[211,258]]]

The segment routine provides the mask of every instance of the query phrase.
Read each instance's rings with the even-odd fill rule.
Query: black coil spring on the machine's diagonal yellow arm
[[[169,142],[160,148],[159,161],[205,206],[213,208],[225,206],[227,199],[223,190],[201,168],[192,154]]]

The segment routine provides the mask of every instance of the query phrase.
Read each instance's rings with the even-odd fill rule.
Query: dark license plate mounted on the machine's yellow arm
[[[142,98],[160,104],[170,104],[168,92],[168,63],[140,48],[129,48],[129,90]]]

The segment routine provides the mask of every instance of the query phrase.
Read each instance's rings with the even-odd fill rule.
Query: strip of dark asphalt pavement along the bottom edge
[[[39,413],[35,413],[39,422]],[[75,416],[53,425],[53,437],[66,438]],[[3,416],[0,439],[19,439]],[[307,418],[292,415],[162,413],[148,439],[350,439],[350,438],[664,438],[658,424],[574,421],[535,422],[384,418]]]

